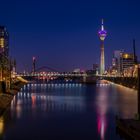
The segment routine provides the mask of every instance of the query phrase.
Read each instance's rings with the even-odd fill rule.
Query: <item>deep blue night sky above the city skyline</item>
[[[10,56],[19,71],[37,67],[60,71],[91,69],[99,63],[97,31],[104,18],[106,66],[114,50],[136,50],[140,56],[139,0],[0,0],[0,25],[10,34]]]

